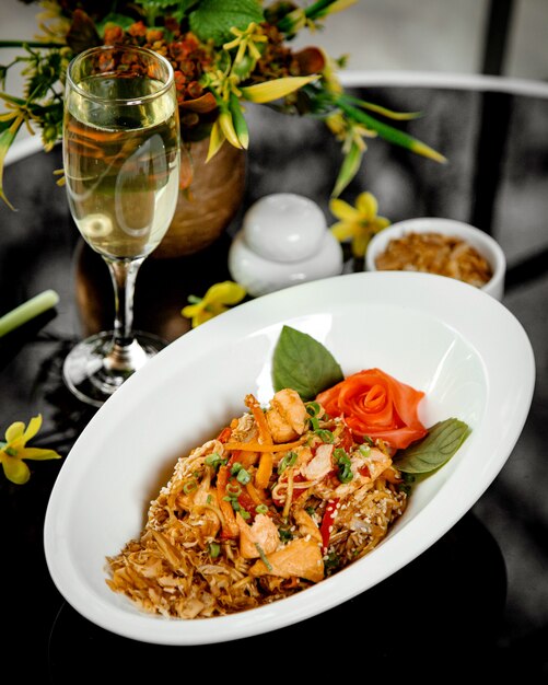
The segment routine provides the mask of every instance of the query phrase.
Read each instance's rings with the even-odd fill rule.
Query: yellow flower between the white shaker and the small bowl
[[[363,257],[373,235],[390,224],[388,219],[377,216],[377,201],[371,193],[361,193],[355,207],[345,200],[333,199],[329,209],[339,219],[330,227],[331,233],[339,242],[352,241],[354,257]]]

